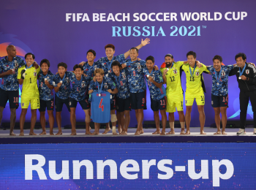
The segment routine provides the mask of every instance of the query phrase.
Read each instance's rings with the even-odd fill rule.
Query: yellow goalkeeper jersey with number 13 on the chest
[[[190,68],[190,69],[189,69]],[[194,68],[189,66],[189,64],[184,64],[181,69],[184,70],[186,74],[186,79],[187,79],[187,89],[186,93],[187,94],[202,94],[203,92],[206,92],[206,88],[203,83],[203,72],[208,73],[207,67],[202,64],[200,68],[197,67],[195,64]]]

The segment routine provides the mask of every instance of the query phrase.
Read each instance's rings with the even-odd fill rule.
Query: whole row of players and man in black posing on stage
[[[146,86],[150,92],[151,110],[154,112],[156,132],[153,134],[175,134],[174,113],[178,111],[181,125],[180,134],[190,134],[192,105],[195,101],[199,112],[200,134],[204,132],[206,114],[204,105],[210,104],[214,109],[217,132],[214,134],[227,134],[228,107],[228,77],[236,75],[238,81],[240,102],[240,129],[238,135],[246,134],[246,114],[249,100],[252,104],[254,131],[256,134],[256,69],[255,65],[246,62],[246,55],[234,55],[236,64],[225,65],[221,56],[214,56],[211,65],[197,61],[193,51],[187,53],[187,61],[174,61],[174,56],[167,52],[165,61],[160,68],[155,65],[154,56],[139,57],[141,47],[148,45],[150,39],[142,39],[140,45],[130,48],[126,53],[115,56],[115,46],[105,45],[105,57],[95,60],[96,52],[86,52],[87,61],[75,64],[72,71],[67,71],[67,64],[58,64],[58,72],[50,72],[50,61],[42,59],[35,61],[32,53],[26,53],[25,61],[16,56],[15,45],[7,46],[7,56],[0,61],[0,123],[4,108],[10,104],[10,135],[16,121],[16,109],[19,107],[19,85],[21,91],[20,136],[24,135],[26,113],[31,110],[31,129],[29,135],[34,133],[37,121],[37,110],[40,114],[42,133],[45,131],[45,111],[48,113],[50,135],[53,135],[53,126],[56,120],[61,135],[61,111],[65,104],[70,113],[72,126],[71,135],[76,134],[76,107],[78,102],[85,113],[86,134],[99,134],[100,123],[105,123],[103,134],[127,134],[130,122],[130,111],[135,110],[138,128],[135,135],[143,134],[143,110],[146,110]],[[102,47],[103,48],[103,47]],[[129,58],[128,58],[129,57]],[[181,74],[186,75],[186,90],[181,86]],[[203,74],[205,73],[205,74]],[[211,102],[205,102],[206,87],[203,75],[211,75]],[[166,84],[166,88],[164,86]],[[53,96],[53,91],[55,96]],[[185,100],[185,105],[184,105]],[[186,106],[186,113],[184,113]],[[56,114],[53,115],[53,110]],[[6,110],[8,111],[8,110]],[[160,117],[162,131],[160,130]],[[170,132],[165,132],[167,117]],[[94,132],[90,123],[94,122]],[[118,125],[117,125],[118,121]],[[221,129],[222,121],[222,129]],[[117,129],[116,129],[117,126]],[[185,126],[187,128],[185,132]]]

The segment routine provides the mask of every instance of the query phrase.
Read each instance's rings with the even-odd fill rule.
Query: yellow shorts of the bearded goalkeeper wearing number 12
[[[166,112],[174,113],[177,111],[183,111],[183,94],[180,96],[170,96],[166,94],[167,98],[167,105],[166,105]]]

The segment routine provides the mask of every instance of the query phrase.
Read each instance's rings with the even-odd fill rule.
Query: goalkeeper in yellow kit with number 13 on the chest
[[[196,53],[193,51],[189,51],[187,53],[187,61],[188,64],[184,64],[181,66],[181,69],[184,70],[187,78],[187,89],[185,94],[185,103],[186,103],[186,115],[185,120],[187,124],[187,132],[186,134],[190,134],[190,121],[191,121],[191,111],[192,105],[195,101],[197,102],[197,109],[199,112],[199,120],[200,120],[200,134],[206,134],[203,132],[203,127],[206,121],[206,115],[204,113],[204,104],[205,104],[205,96],[204,92],[206,92],[206,88],[203,83],[203,72],[208,73],[208,69],[205,65],[202,64],[200,68],[196,65]]]

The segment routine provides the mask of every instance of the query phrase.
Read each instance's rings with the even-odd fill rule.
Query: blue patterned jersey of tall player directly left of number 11
[[[126,65],[129,91],[132,93],[145,91],[146,83],[144,79],[143,69],[146,68],[146,62],[143,60],[131,61],[130,59],[127,59]]]

